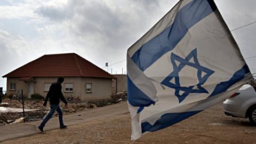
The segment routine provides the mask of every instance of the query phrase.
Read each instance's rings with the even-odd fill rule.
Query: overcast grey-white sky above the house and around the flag
[[[77,53],[113,74],[126,73],[126,51],[178,0],[1,0],[0,87],[3,75],[44,54]],[[255,0],[215,0],[229,29],[256,21]],[[244,58],[256,56],[256,23],[232,31]],[[256,58],[247,59],[256,73]],[[103,68],[107,70],[107,68]]]

